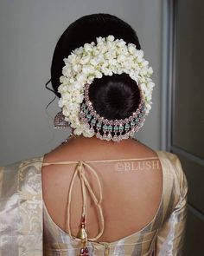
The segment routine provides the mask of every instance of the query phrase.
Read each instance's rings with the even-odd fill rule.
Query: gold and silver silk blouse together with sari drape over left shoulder
[[[156,153],[163,167],[163,195],[155,217],[137,233],[115,242],[88,240],[90,255],[182,255],[188,182],[176,154]],[[0,256],[80,255],[80,239],[57,226],[43,202],[43,159],[0,168]]]

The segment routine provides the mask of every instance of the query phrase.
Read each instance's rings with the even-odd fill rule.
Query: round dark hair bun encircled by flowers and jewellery
[[[99,115],[107,119],[124,119],[136,111],[140,103],[137,82],[127,74],[103,75],[93,80],[89,98]]]

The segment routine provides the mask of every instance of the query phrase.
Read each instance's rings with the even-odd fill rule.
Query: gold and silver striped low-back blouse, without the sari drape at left
[[[175,154],[161,151],[157,154],[163,167],[163,195],[155,217],[137,233],[115,242],[88,240],[90,255],[181,255],[186,220],[187,181]],[[153,158],[145,158],[147,159]],[[68,164],[73,161],[59,163]],[[84,163],[87,167],[88,162]],[[83,165],[81,162],[80,164]],[[44,202],[43,223],[44,255],[80,255],[80,240],[54,223]]]

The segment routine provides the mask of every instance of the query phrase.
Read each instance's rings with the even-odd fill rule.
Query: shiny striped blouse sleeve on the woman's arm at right
[[[187,221],[188,181],[177,156],[175,164],[179,175],[178,179],[180,181],[180,196],[173,212],[169,215],[169,218],[163,223],[163,226],[157,233],[154,254],[156,256],[182,255]]]

